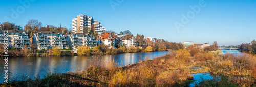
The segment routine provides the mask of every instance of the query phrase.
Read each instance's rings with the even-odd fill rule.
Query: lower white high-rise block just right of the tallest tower
[[[95,33],[97,33],[98,35],[102,35],[106,32],[106,28],[102,26],[99,21],[93,21],[92,24],[94,25]]]

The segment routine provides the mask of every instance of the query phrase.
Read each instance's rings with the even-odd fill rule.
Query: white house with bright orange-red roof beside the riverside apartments
[[[106,46],[109,46],[109,48],[112,48],[112,47],[115,48],[118,45],[117,39],[113,35],[110,35],[109,33],[104,33],[103,35],[101,35],[97,43],[98,44],[103,43]]]

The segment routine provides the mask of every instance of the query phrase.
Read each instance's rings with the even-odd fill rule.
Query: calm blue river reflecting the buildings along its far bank
[[[125,53],[117,55],[104,55],[101,60],[115,60],[119,66],[134,64],[141,60],[161,57],[169,53],[164,52],[144,52],[144,53]],[[89,67],[94,56],[61,56],[61,57],[12,57],[8,59],[8,70],[10,77],[26,75],[29,78],[44,77],[49,71],[56,73],[81,72]],[[4,72],[3,72],[4,73]],[[3,80],[3,75],[1,79]],[[0,82],[2,83],[2,82]]]

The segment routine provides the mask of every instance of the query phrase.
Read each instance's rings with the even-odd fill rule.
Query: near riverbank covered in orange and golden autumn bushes
[[[196,50],[193,52],[193,50]],[[194,55],[194,56],[192,56]],[[255,85],[256,56],[230,54],[221,51],[186,49],[173,51],[162,57],[145,60],[129,66],[118,67],[115,61],[91,61],[91,66],[82,72],[52,73],[43,79],[12,81],[12,86],[186,86],[193,81],[193,73],[209,72],[220,76],[243,76],[251,79],[203,80],[197,85],[237,86]],[[102,65],[98,65],[102,64]],[[197,67],[199,66],[199,67]],[[25,82],[25,84],[24,84]],[[28,84],[26,84],[28,83]]]

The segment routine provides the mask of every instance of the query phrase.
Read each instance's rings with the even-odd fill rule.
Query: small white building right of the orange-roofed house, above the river
[[[130,48],[130,47],[135,47],[135,38],[132,37],[132,38],[129,38],[129,37],[124,37],[122,38],[122,43],[121,43],[121,46],[126,46],[127,48]]]

